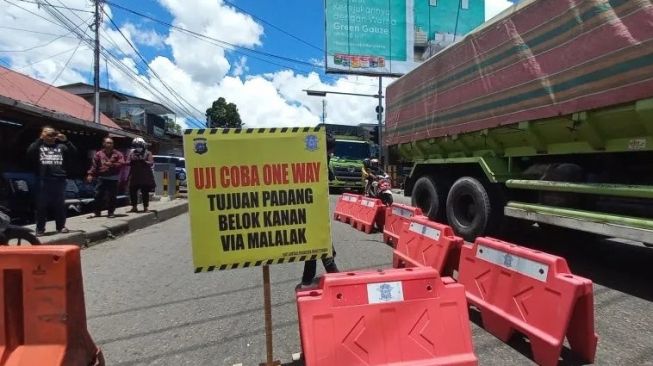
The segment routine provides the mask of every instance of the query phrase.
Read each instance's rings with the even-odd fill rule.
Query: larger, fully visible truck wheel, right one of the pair
[[[447,197],[447,218],[467,241],[484,235],[492,221],[492,204],[483,184],[472,177],[458,179]]]

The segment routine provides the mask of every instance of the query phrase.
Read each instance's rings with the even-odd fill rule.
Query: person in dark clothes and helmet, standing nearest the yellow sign
[[[154,173],[152,165],[154,156],[147,149],[147,143],[140,137],[132,141],[132,150],[127,156],[129,165],[129,198],[132,209],[129,212],[138,212],[138,192],[141,192],[143,211],[148,211],[150,192],[154,189]]]

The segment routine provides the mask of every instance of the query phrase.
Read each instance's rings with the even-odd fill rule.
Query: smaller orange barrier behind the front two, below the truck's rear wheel
[[[404,224],[392,265],[403,268],[419,264],[435,268],[443,276],[451,276],[458,267],[463,244],[464,240],[455,236],[450,226],[426,216],[416,216],[409,224]]]

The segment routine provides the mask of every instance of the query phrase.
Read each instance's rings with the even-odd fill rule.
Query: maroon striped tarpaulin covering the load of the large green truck
[[[387,145],[632,105],[653,97],[653,5],[527,1],[391,84],[387,96]],[[651,136],[648,127],[624,126],[628,136],[619,137]]]

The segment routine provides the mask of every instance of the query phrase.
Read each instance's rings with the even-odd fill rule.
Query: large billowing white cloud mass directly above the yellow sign
[[[175,25],[246,47],[261,43],[263,28],[221,1],[194,0],[190,4],[189,1],[161,0],[161,3],[171,12]],[[374,94],[378,88],[377,79],[366,77],[350,76],[329,84],[321,81],[316,73],[298,75],[290,70],[246,75],[245,57],[231,64],[223,49],[177,30],[170,32],[166,44],[171,48],[172,59],[157,57],[150,67],[159,75],[165,75],[166,84],[193,106],[187,109],[192,109],[194,118],[199,121],[204,121],[204,111],[211,102],[224,97],[238,105],[242,120],[249,127],[313,126],[320,121],[322,101],[307,96],[302,89]],[[151,79],[151,82],[165,91],[158,81]],[[129,80],[119,84],[127,90],[133,88]],[[148,93],[138,90],[136,94]],[[175,100],[173,96],[168,98]],[[377,101],[373,98],[329,95],[327,101],[327,122],[376,121]]]

